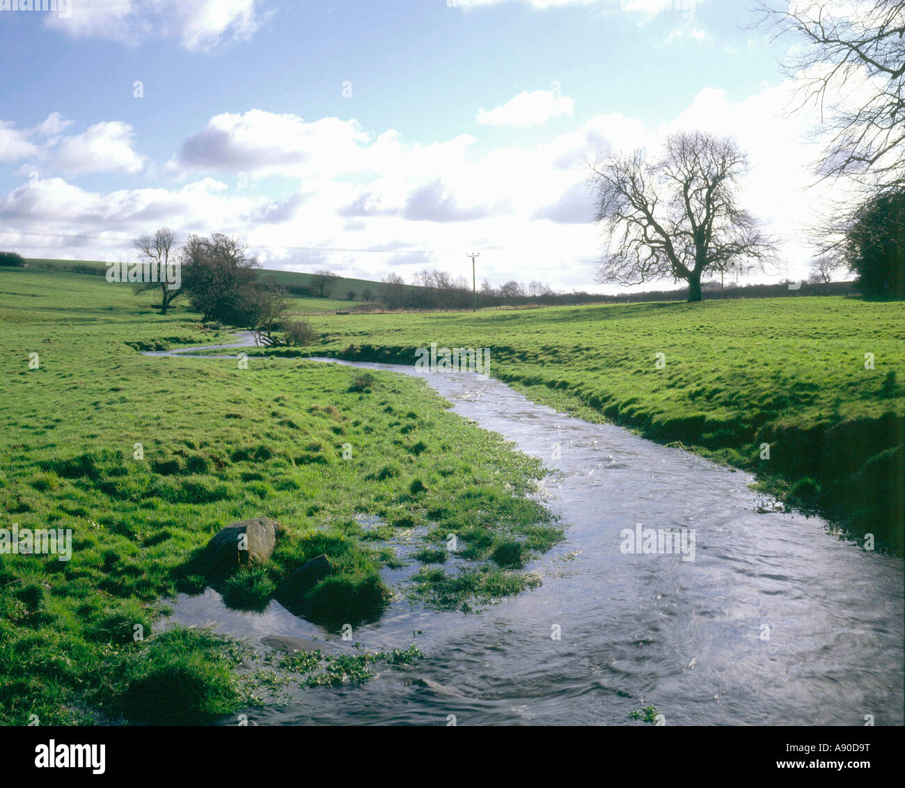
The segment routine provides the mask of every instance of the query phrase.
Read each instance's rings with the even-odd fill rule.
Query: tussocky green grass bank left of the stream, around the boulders
[[[398,529],[424,535],[413,598],[466,609],[533,584],[519,566],[561,536],[529,498],[538,461],[449,413],[423,381],[298,359],[242,369],[142,356],[228,337],[181,309],[161,318],[152,295],[100,277],[0,271],[0,291],[2,527],[73,531],[70,561],[0,556],[6,724],[204,722],[242,707],[242,654],[204,633],[155,632],[159,600],[203,589],[191,559],[233,521],[286,527],[233,596],[266,601],[326,553],[315,592],[329,626],[379,615],[380,571],[397,561],[381,540]],[[464,564],[455,584],[430,563],[450,534]]]

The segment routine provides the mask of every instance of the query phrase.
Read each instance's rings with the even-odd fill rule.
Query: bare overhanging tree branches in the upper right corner
[[[765,0],[758,8],[776,37],[803,40],[786,72],[799,84],[799,108],[821,108],[821,179],[848,176],[872,193],[905,185],[905,2],[795,0],[776,8]]]

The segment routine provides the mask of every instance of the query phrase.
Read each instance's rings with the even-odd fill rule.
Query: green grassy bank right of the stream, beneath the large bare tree
[[[322,337],[312,352],[350,359],[413,364],[431,342],[489,347],[491,375],[531,399],[754,471],[790,504],[901,555],[902,303],[786,298],[311,323]]]

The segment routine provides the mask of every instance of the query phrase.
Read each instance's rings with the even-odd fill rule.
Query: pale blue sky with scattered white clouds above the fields
[[[0,0],[0,248],[26,257],[134,260],[168,226],[267,268],[470,279],[480,252],[479,282],[614,292],[586,157],[700,128],[780,242],[748,280],[797,280],[832,196],[795,42],[744,0],[29,5]]]

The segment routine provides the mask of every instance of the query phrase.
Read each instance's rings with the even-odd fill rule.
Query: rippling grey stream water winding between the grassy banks
[[[556,413],[499,381],[336,363],[422,376],[456,413],[544,460],[555,472],[543,496],[567,540],[527,566],[543,579],[536,590],[480,614],[400,600],[354,632],[368,650],[414,643],[426,659],[359,686],[293,690],[252,722],[624,725],[654,705],[666,725],[903,724],[900,559],[841,541],[819,518],[765,512],[746,473]],[[683,529],[693,552],[625,553],[622,532],[637,524]],[[328,636],[276,602],[230,611],[210,589],[173,607],[170,622],[214,623],[262,649],[271,634]],[[336,636],[326,648],[352,650]]]

